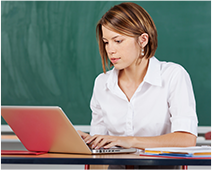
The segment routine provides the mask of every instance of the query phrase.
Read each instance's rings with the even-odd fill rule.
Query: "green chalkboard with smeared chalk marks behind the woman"
[[[73,124],[88,125],[93,82],[102,72],[95,26],[121,2],[0,0],[0,105],[57,105]],[[132,2],[155,21],[156,57],[189,72],[199,125],[212,126],[212,1]]]

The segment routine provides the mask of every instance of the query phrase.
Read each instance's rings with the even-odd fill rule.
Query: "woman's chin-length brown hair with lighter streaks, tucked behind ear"
[[[96,36],[104,73],[106,73],[106,67],[109,68],[109,61],[105,44],[102,40],[102,26],[134,38],[147,33],[149,40],[144,48],[145,54],[143,57],[151,58],[154,56],[157,49],[157,30],[151,16],[145,9],[135,3],[127,2],[115,5],[102,16],[96,26]]]

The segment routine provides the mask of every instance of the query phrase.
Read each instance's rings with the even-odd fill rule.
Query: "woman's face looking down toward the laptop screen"
[[[102,26],[102,39],[109,60],[118,70],[135,66],[140,56],[140,46],[135,38],[118,34]]]

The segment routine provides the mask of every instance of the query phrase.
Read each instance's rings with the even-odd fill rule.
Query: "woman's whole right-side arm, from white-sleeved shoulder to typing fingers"
[[[176,70],[175,70],[176,69]],[[181,67],[172,69],[168,104],[172,133],[152,137],[115,137],[95,135],[88,140],[93,147],[122,146],[126,148],[186,147],[196,145],[197,117],[192,84],[187,72]],[[170,73],[170,71],[169,71]],[[190,133],[189,133],[190,132]]]

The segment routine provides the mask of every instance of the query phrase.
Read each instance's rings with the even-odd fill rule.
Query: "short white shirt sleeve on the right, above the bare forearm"
[[[168,97],[171,132],[184,131],[197,136],[196,102],[188,73],[179,66],[170,81]]]

